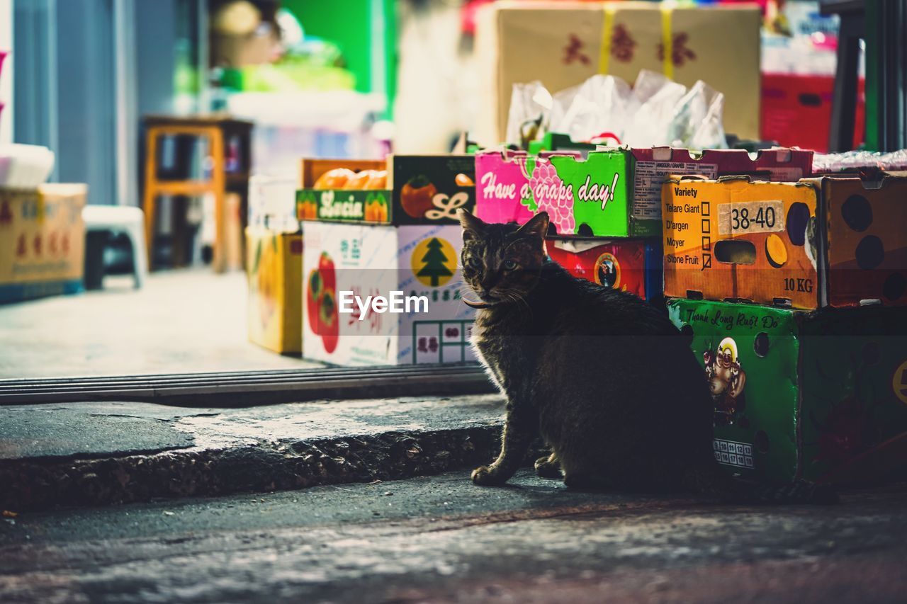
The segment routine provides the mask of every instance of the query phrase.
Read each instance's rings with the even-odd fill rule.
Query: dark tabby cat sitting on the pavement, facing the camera
[[[473,472],[498,485],[538,436],[535,463],[571,487],[695,492],[727,501],[824,501],[805,482],[756,489],[712,453],[712,402],[702,368],[668,317],[627,292],[573,278],[545,254],[548,215],[522,227],[461,209],[463,280],[478,308],[473,348],[502,394],[501,453]]]

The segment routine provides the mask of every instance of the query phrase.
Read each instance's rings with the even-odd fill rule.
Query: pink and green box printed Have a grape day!
[[[661,185],[673,174],[799,180],[810,175],[812,162],[813,152],[799,149],[483,151],[475,156],[476,213],[522,224],[544,209],[559,235],[658,236]]]

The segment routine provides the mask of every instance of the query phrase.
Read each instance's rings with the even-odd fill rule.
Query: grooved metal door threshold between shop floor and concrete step
[[[475,364],[0,379],[0,405],[140,401],[200,407],[494,392]]]

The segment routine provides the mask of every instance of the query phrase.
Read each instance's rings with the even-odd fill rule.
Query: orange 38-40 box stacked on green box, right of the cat
[[[905,198],[891,175],[663,185],[668,313],[705,366],[732,472],[867,481],[902,459]]]

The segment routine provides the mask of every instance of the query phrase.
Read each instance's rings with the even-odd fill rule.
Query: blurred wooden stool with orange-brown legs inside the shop
[[[226,268],[224,243],[227,238],[225,213],[228,191],[239,193],[240,223],[245,226],[246,200],[249,194],[249,171],[252,165],[252,122],[234,120],[225,116],[176,117],[150,115],[144,118],[146,136],[145,154],[145,240],[148,246],[148,265],[153,262],[155,203],[161,195],[196,197],[211,193],[214,196],[214,258],[212,265],[217,272]],[[158,139],[161,136],[190,136],[208,139],[210,180],[161,180]],[[239,138],[239,168],[227,171],[227,145]],[[207,161],[206,161],[207,163]],[[206,168],[209,166],[206,165]]]

